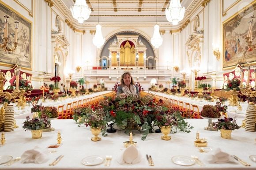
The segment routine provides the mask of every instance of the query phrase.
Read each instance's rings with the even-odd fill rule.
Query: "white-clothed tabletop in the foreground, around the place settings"
[[[241,125],[242,119],[237,119],[237,123]],[[203,129],[207,126],[206,119],[188,119],[191,126],[194,126],[190,133],[174,133],[169,134],[171,140],[161,140],[161,133],[148,134],[146,140],[141,140],[141,134],[135,131],[133,136],[134,141],[137,142],[137,149],[142,155],[140,163],[137,164],[123,164],[117,163],[117,155],[124,151],[123,142],[129,139],[124,131],[117,131],[117,133],[109,133],[107,137],[102,137],[101,141],[93,142],[90,140],[93,135],[89,127],[84,125],[78,127],[77,124],[71,120],[53,120],[52,126],[56,129],[53,132],[44,132],[41,139],[32,139],[31,133],[22,128],[23,119],[17,119],[18,129],[12,132],[5,133],[6,144],[0,146],[0,155],[11,155],[13,158],[19,157],[24,151],[30,150],[35,146],[47,148],[50,144],[56,144],[57,132],[60,131],[62,137],[62,145],[56,148],[55,153],[49,153],[49,160],[46,163],[22,164],[21,161],[12,164],[11,166],[0,165],[1,170],[245,170],[256,169],[256,163],[249,159],[249,155],[256,155],[256,141],[255,132],[247,132],[244,128],[234,130],[230,140],[220,137],[220,132],[206,131]],[[213,150],[221,148],[223,152],[230,155],[237,155],[239,158],[245,160],[251,166],[243,166],[241,163],[215,163],[210,164],[205,160],[205,156],[212,154],[200,153],[199,149],[194,146],[196,132],[200,133],[200,138],[207,138],[208,147]],[[101,136],[101,135],[100,135]],[[155,166],[149,166],[146,154],[151,155]],[[63,159],[56,166],[49,166],[59,155],[64,155]],[[104,166],[104,163],[97,166],[84,166],[81,160],[90,155],[99,155],[105,158],[105,155],[112,155],[113,159],[110,166]],[[205,164],[199,166],[194,164],[192,166],[180,166],[171,161],[175,155],[196,155]]]

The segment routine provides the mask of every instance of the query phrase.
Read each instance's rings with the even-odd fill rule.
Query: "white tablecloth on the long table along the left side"
[[[54,107],[58,107],[58,106],[64,104],[64,110],[66,110],[67,103],[74,102],[77,100],[87,99],[87,98],[94,97],[94,96],[100,96],[102,94],[106,94],[109,92],[111,92],[111,91],[94,92],[89,95],[77,96],[77,97],[73,97],[73,98],[69,97],[69,98],[66,98],[63,100],[57,100],[57,101],[50,100],[50,101],[46,101],[44,103],[39,101],[38,104],[42,103],[43,106],[54,106]],[[24,109],[18,109],[18,107],[16,106],[17,103],[11,103],[11,104],[13,104],[15,106],[14,107],[14,110],[15,110],[14,118],[26,118],[27,116],[30,116],[30,117],[32,116],[32,114],[31,114],[32,104],[30,104],[30,106],[26,106]]]

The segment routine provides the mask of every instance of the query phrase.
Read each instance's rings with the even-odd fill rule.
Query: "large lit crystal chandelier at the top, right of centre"
[[[166,18],[173,25],[177,25],[185,14],[185,7],[181,7],[180,0],[171,0],[169,8],[166,8]]]

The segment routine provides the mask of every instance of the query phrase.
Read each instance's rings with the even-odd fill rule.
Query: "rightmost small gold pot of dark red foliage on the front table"
[[[220,130],[222,138],[230,139],[232,130],[239,129],[236,120],[233,118],[220,118],[218,122],[214,124],[214,128]]]

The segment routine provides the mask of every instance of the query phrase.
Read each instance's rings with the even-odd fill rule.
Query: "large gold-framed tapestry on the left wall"
[[[28,21],[18,12],[8,5],[0,2],[0,42],[3,43],[4,37],[4,15],[8,15],[8,47],[14,47],[15,28],[14,21],[19,22],[18,45],[14,51],[5,52],[0,48],[0,65],[12,67],[15,64],[22,69],[32,70],[32,22]]]

